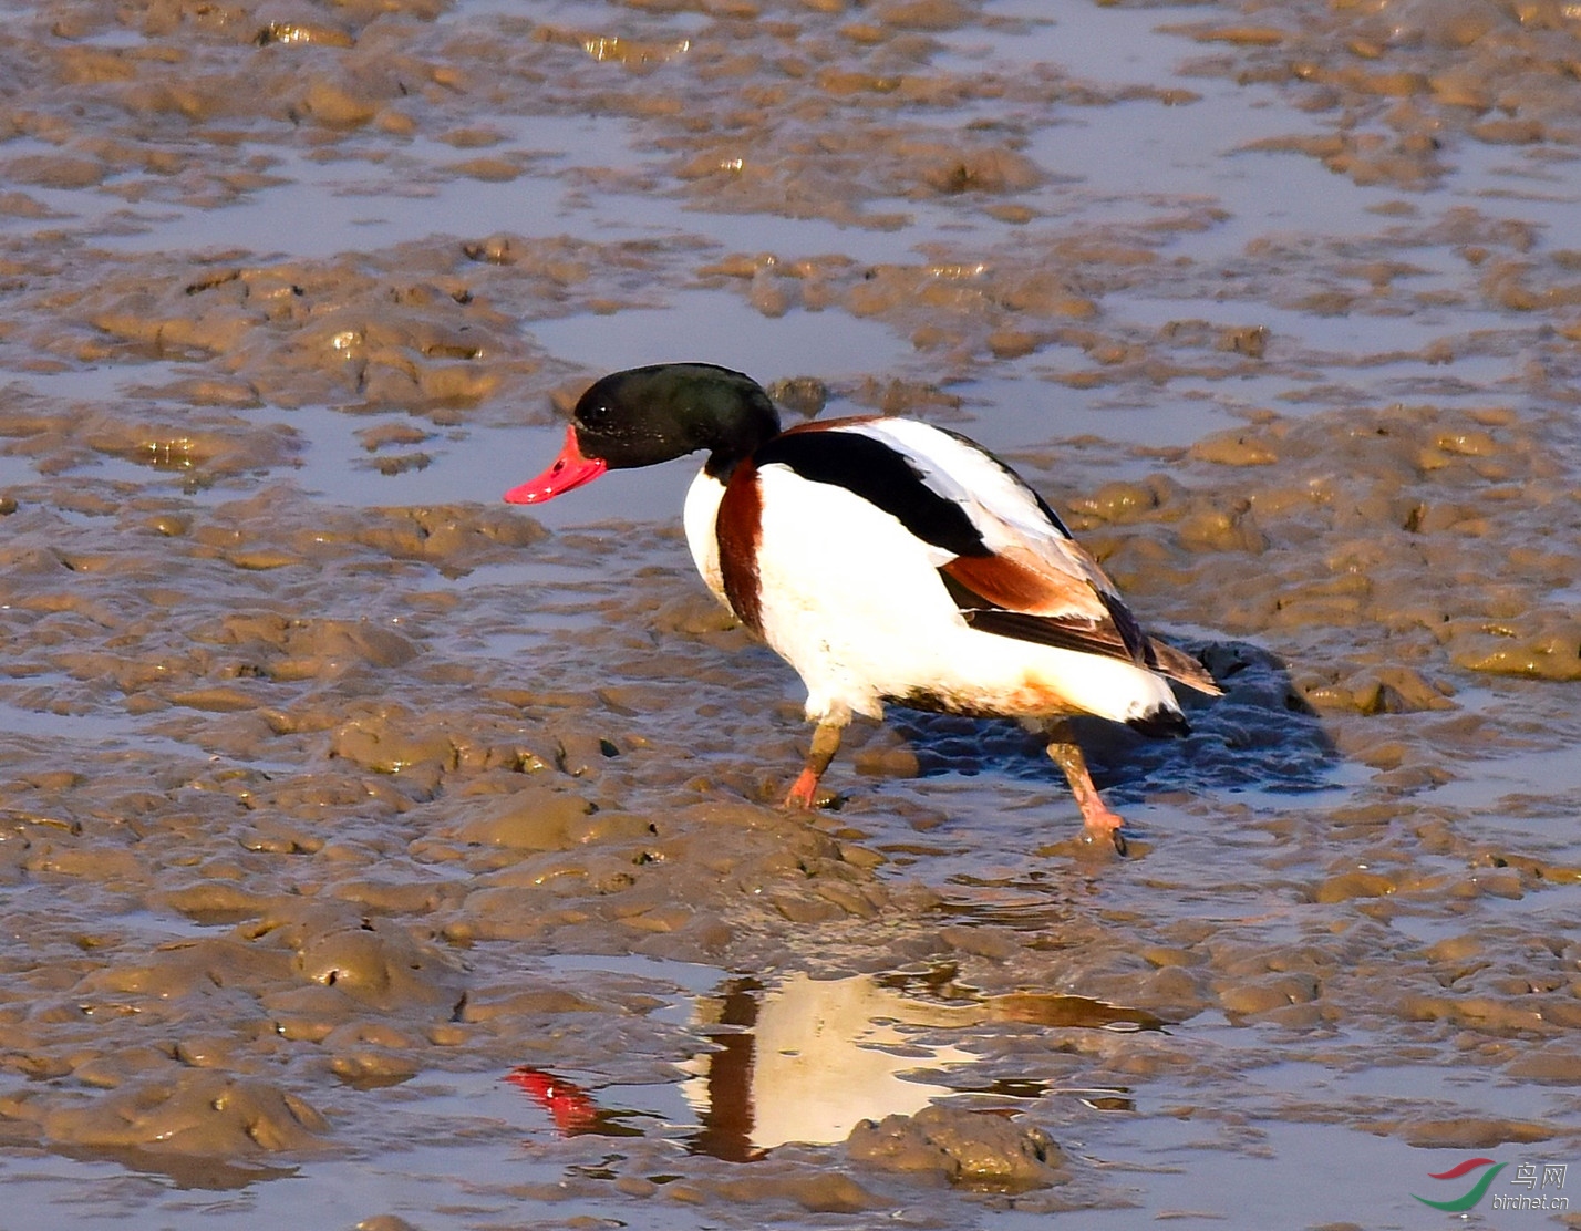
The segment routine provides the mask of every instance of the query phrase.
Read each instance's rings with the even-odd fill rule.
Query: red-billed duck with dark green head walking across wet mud
[[[854,416],[783,428],[751,376],[678,362],[615,371],[577,400],[539,504],[607,471],[705,454],[681,521],[715,597],[802,676],[813,733],[784,804],[811,809],[852,717],[885,705],[1020,719],[1081,812],[1127,852],[1070,719],[1189,733],[1172,681],[1205,667],[1137,623],[1115,583],[1009,465],[931,424]]]

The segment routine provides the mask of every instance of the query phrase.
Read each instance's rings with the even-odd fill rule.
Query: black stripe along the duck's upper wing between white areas
[[[783,465],[813,484],[852,491],[923,542],[957,556],[991,555],[966,510],[923,482],[904,454],[857,431],[794,431],[753,454],[759,469]]]

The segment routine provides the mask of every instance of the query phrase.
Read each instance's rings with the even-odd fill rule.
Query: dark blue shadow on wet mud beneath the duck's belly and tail
[[[1326,790],[1339,754],[1322,722],[1290,683],[1285,664],[1247,642],[1183,642],[1224,689],[1202,697],[1181,689],[1190,735],[1149,740],[1118,722],[1073,719],[1094,782],[1115,801],[1165,789],[1273,793]],[[1058,781],[1047,740],[1007,719],[971,719],[917,710],[890,711],[923,777],[1001,774]]]

